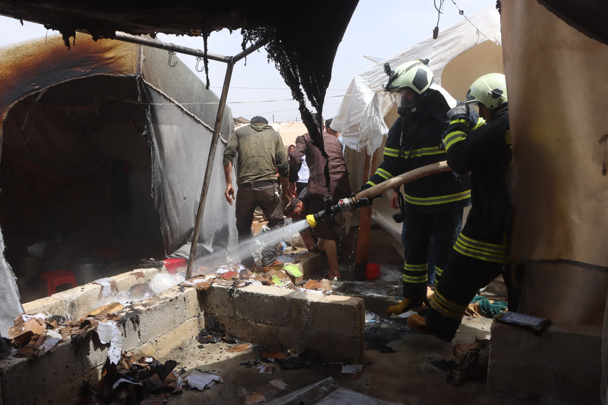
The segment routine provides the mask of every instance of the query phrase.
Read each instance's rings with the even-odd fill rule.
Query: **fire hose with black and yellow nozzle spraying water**
[[[407,171],[402,175],[395,176],[387,181],[383,181],[380,184],[373,185],[369,189],[361,190],[361,192],[352,197],[342,198],[335,206],[328,205],[326,209],[321,212],[306,215],[306,221],[308,221],[311,228],[314,228],[320,221],[324,221],[328,218],[334,218],[334,216],[339,212],[346,212],[353,209],[358,209],[360,207],[370,206],[373,198],[382,195],[382,193],[387,192],[390,189],[395,189],[395,187],[399,187],[400,185],[409,183],[410,181],[449,170],[452,169],[447,165],[446,161],[415,168],[414,170]]]

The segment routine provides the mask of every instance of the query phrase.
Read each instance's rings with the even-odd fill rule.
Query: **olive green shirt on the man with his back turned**
[[[235,157],[237,184],[277,181],[277,168],[282,177],[289,177],[283,139],[268,124],[243,125],[235,130],[224,150],[224,166],[233,162]]]

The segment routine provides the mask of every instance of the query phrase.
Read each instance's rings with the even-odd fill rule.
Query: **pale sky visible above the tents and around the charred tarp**
[[[471,16],[486,7],[494,7],[496,4],[496,0],[454,1],[461,10],[465,11],[466,16]],[[439,22],[439,35],[442,28],[463,19],[451,0],[444,1],[443,11]],[[437,11],[432,0],[360,0],[337,50],[327,96],[345,94],[353,77],[373,64],[363,55],[390,57],[431,35],[436,23]],[[294,17],[294,25],[297,24],[297,17]],[[54,32],[49,31],[49,35],[52,33]],[[46,34],[47,30],[40,24],[24,22],[24,26],[21,26],[21,23],[15,19],[0,16],[0,46]],[[165,42],[196,49],[203,47],[202,38],[164,34],[159,34],[159,38]],[[241,50],[241,41],[242,37],[238,31],[233,32],[232,35],[228,30],[214,32],[209,38],[209,52],[221,55],[237,54]],[[195,57],[179,55],[179,58],[194,71]],[[225,71],[225,64],[209,62],[211,86],[218,94],[224,81]],[[205,80],[204,72],[196,72],[196,74]],[[264,50],[247,57],[247,66],[244,66],[244,61],[235,65],[228,94],[233,116],[250,119],[254,115],[262,115],[272,122],[274,114],[275,121],[294,120],[296,116],[299,117],[297,102],[294,100],[263,102],[263,100],[285,99],[291,99],[291,92],[274,64],[268,63]],[[323,107],[323,116],[333,117],[341,100],[342,97],[328,97]]]

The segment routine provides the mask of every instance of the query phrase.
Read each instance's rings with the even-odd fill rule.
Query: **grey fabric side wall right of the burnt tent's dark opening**
[[[143,47],[142,77],[150,107],[156,184],[165,253],[188,258],[198,199],[207,164],[219,97],[181,61],[167,64],[164,50]],[[154,66],[154,69],[147,69]],[[162,66],[162,67],[161,67]],[[222,154],[233,130],[232,112],[224,110],[213,165],[209,198],[199,232],[199,255],[237,244],[234,206],[224,198]]]

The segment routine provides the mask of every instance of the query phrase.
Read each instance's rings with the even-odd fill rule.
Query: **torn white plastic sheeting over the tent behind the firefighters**
[[[382,136],[389,133],[384,116],[393,107],[390,95],[382,91],[382,85],[388,80],[384,73],[384,63],[387,62],[395,69],[410,60],[428,58],[429,67],[435,75],[435,83],[431,87],[441,91],[450,105],[455,105],[451,95],[440,87],[444,67],[458,55],[484,41],[502,45],[500,15],[494,7],[478,12],[469,20],[463,19],[441,30],[437,40],[429,36],[357,75],[348,86],[348,95],[342,100],[331,129],[341,131],[342,141],[356,151],[367,149],[367,153],[371,154],[380,146]]]

